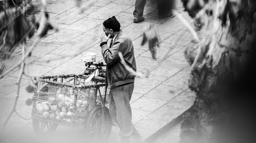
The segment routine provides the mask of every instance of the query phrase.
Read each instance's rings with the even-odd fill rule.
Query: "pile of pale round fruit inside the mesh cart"
[[[77,100],[75,102],[71,97],[58,94],[56,97],[49,97],[48,100],[39,101],[36,104],[36,111],[38,115],[45,119],[71,122],[75,113],[85,111],[88,105],[87,100]],[[74,107],[76,107],[76,110],[74,110]]]

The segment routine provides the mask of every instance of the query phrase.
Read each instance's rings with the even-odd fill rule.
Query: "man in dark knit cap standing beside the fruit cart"
[[[107,45],[109,38],[112,38],[110,47]],[[123,35],[115,16],[103,22],[100,39],[101,52],[106,63],[106,80],[110,88],[110,115],[120,128],[120,142],[132,142],[132,139],[133,142],[140,142],[140,133],[132,124],[130,106],[135,75],[131,75],[124,68],[118,55],[120,51],[126,63],[136,71],[132,40]]]

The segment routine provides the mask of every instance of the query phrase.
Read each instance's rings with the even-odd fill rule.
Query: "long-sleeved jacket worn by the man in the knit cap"
[[[106,63],[106,79],[110,88],[134,82],[135,75],[131,75],[124,68],[118,55],[119,51],[123,54],[126,64],[136,71],[132,40],[124,37],[122,31],[120,31],[111,47],[108,47],[107,44],[101,46],[103,59]]]

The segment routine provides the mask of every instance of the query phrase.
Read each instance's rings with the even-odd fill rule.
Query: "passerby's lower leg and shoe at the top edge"
[[[144,12],[145,5],[146,5],[146,0],[136,0],[136,2],[135,2],[135,10],[133,12],[134,22],[135,23],[144,20],[143,12]]]

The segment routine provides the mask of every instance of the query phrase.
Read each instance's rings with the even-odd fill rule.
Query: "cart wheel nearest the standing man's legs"
[[[86,120],[84,129],[86,130],[88,138],[92,142],[105,141],[110,136],[112,129],[112,119],[110,117],[109,109],[103,107],[104,119],[102,114],[102,106],[97,105],[93,107]],[[103,121],[102,121],[103,120]]]

